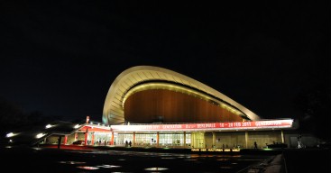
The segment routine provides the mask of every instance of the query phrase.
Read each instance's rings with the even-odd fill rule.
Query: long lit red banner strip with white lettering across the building
[[[231,123],[184,123],[184,124],[148,124],[148,125],[112,125],[113,131],[197,131],[197,130],[249,130],[291,128],[293,120],[271,120]]]

